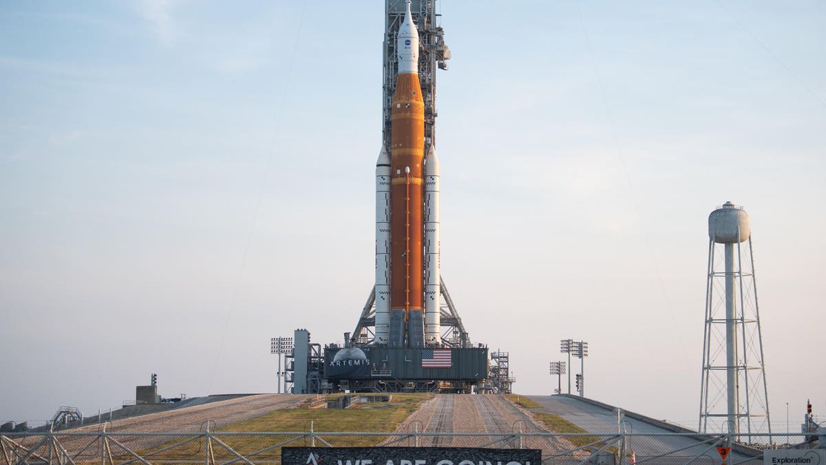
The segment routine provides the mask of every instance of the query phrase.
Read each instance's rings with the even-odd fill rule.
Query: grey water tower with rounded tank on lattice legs
[[[766,370],[748,213],[731,202],[709,215],[700,433],[771,443]],[[768,440],[752,434],[769,434]]]

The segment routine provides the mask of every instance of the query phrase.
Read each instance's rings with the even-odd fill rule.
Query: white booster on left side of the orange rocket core
[[[390,330],[390,157],[382,146],[376,161],[376,334],[387,343]]]

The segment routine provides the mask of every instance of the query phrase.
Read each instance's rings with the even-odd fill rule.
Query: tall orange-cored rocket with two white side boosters
[[[390,154],[376,163],[375,339],[388,347],[441,343],[439,328],[439,161],[425,163],[425,103],[419,33],[406,0],[396,38]]]

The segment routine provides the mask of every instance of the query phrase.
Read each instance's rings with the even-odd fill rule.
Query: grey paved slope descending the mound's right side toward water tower
[[[617,434],[617,412],[611,405],[592,403],[572,395],[526,397],[542,406],[532,411],[559,415],[589,433]],[[627,448],[636,453],[637,463],[686,463],[691,457],[697,458],[692,463],[721,462],[714,443],[703,443],[690,436],[636,436],[635,434],[674,434],[681,427],[675,425],[672,428],[656,419],[646,419],[633,413],[630,415],[633,418],[623,415],[624,431],[630,434]],[[668,453],[668,457],[657,457],[663,453]],[[726,463],[762,463],[762,459],[752,458],[749,462],[747,456],[730,453]]]

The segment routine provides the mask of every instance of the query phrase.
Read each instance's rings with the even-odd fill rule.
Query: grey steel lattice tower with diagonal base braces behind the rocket
[[[444,43],[444,29],[438,24],[436,0],[412,0],[411,14],[419,32],[420,54],[418,74],[421,97],[425,103],[425,147],[434,145],[436,112],[436,69],[447,70],[446,60],[450,59],[450,50]],[[396,89],[398,61],[396,56],[396,34],[404,21],[406,5],[404,0],[385,0],[385,28],[382,56],[382,147],[390,153],[392,134],[392,98]],[[471,342],[468,332],[462,324],[456,306],[450,298],[444,280],[439,277],[439,316],[441,325],[440,345],[452,348],[469,347]],[[444,303],[443,303],[444,301]],[[375,340],[376,324],[376,289],[371,290],[358,324],[349,338],[348,344],[367,345]]]

